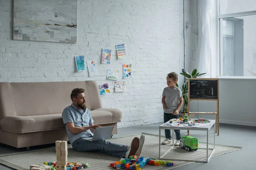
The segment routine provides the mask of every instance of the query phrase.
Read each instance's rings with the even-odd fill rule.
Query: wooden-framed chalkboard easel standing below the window
[[[216,112],[190,112],[191,100],[216,100]],[[219,136],[219,79],[189,78],[188,82],[188,115],[208,114],[216,116],[215,133]],[[188,130],[189,134],[189,130]]]

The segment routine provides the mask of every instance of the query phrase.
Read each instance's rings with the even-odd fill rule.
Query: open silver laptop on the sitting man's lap
[[[100,139],[110,139],[114,126],[96,127],[91,141],[98,141]]]

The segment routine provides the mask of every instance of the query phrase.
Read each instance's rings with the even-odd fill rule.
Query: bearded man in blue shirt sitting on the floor
[[[75,88],[71,92],[70,98],[72,104],[64,109],[62,119],[66,127],[70,144],[76,151],[98,151],[117,156],[119,158],[128,158],[131,155],[140,156],[145,136],[140,139],[135,137],[130,146],[114,144],[105,139],[99,141],[88,140],[93,136],[92,131],[98,125],[93,125],[93,119],[89,109],[86,108],[84,89]]]

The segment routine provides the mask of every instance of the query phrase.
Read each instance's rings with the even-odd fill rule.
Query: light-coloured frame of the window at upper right
[[[220,0],[216,1],[217,3],[217,70],[218,70],[218,78],[220,79],[256,79],[256,76],[221,76],[221,72],[223,71],[223,56],[222,56],[222,48],[223,44],[221,41],[220,35],[220,21],[223,18],[229,17],[241,17],[241,16],[248,16],[248,15],[256,15],[256,11],[245,11],[245,12],[236,12],[230,14],[220,14]]]

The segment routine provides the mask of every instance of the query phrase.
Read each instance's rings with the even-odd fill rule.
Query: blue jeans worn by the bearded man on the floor
[[[108,153],[119,158],[123,158],[128,151],[126,145],[114,144],[106,139],[90,141],[86,138],[79,138],[73,142],[72,146],[74,150],[79,152],[98,151]]]

